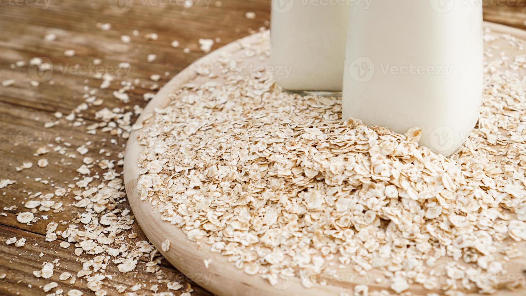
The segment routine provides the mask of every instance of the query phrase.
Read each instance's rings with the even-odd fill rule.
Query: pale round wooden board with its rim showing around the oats
[[[508,33],[517,38],[526,40],[526,31],[511,28],[508,26],[484,23],[485,28],[490,28],[495,33]],[[257,44],[264,41],[262,34],[257,33],[227,46],[224,46],[207,56],[196,60],[193,64],[188,66],[181,73],[172,78],[150,101],[144,109],[143,114],[138,118],[137,122],[142,122],[146,116],[154,111],[154,108],[164,108],[169,104],[169,95],[174,93],[177,89],[186,83],[203,83],[203,81],[196,81],[196,69],[198,65],[203,63],[210,64],[222,55],[229,55],[238,58],[241,63],[252,63],[258,66],[268,65],[268,59],[251,58],[247,59],[244,55],[244,44]],[[265,41],[267,42],[267,41]],[[508,56],[517,56],[520,53],[511,46],[505,44],[500,45],[499,52],[506,52]],[[216,67],[216,73],[217,67]],[[221,75],[213,78],[221,81]],[[197,79],[198,80],[198,79]],[[147,125],[147,124],[146,124]],[[239,270],[234,266],[234,263],[228,262],[228,258],[221,256],[218,253],[210,252],[208,244],[203,243],[202,248],[198,248],[197,244],[187,239],[186,234],[178,227],[171,225],[166,221],[160,219],[160,213],[156,209],[152,209],[148,201],[141,201],[137,191],[137,180],[139,177],[137,160],[139,152],[143,149],[132,132],[127,143],[127,151],[124,160],[124,180],[126,184],[126,192],[128,200],[133,210],[140,227],[146,233],[146,236],[151,243],[163,254],[163,256],[173,264],[179,271],[183,272],[189,279],[195,281],[197,284],[206,290],[217,295],[304,295],[304,296],[318,296],[318,295],[340,295],[340,293],[352,294],[352,288],[356,284],[366,284],[372,290],[392,290],[389,289],[390,283],[385,280],[380,271],[368,272],[367,275],[359,275],[352,267],[338,270],[338,279],[328,280],[326,285],[315,284],[312,288],[304,288],[299,278],[293,278],[280,282],[273,287],[267,280],[262,279],[258,275],[248,275],[243,270]],[[168,251],[161,250],[161,244],[165,240],[171,242]],[[526,245],[522,245],[526,248]],[[204,260],[212,260],[209,267],[205,267]],[[453,259],[449,259],[452,261]],[[444,260],[444,263],[448,260]],[[515,260],[510,262],[507,266],[509,272],[514,274],[522,274],[522,268],[526,266],[526,260]],[[377,283],[376,278],[382,279]],[[421,284],[412,284],[408,290],[415,295],[426,295],[430,292],[441,293],[441,290],[426,290]],[[468,292],[468,295],[479,295],[474,292],[476,289]],[[508,291],[503,290],[498,292],[499,295],[525,295],[525,290]]]

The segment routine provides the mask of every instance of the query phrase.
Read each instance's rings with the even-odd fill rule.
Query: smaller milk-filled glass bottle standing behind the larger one
[[[341,91],[348,1],[272,0],[270,59],[286,90]]]

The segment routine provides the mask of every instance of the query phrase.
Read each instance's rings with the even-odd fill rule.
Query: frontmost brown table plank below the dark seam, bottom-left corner
[[[26,242],[23,247],[16,248],[14,245],[6,246],[5,240],[11,237],[25,238]],[[83,291],[85,295],[93,294],[92,291],[86,288],[86,279],[78,278],[74,284],[70,284],[69,280],[59,280],[59,275],[62,272],[69,272],[76,275],[78,270],[82,270],[84,261],[91,259],[85,254],[77,257],[74,254],[75,248],[70,246],[67,249],[58,247],[55,242],[47,242],[44,237],[32,232],[7,227],[0,225],[0,274],[6,274],[6,277],[0,280],[0,291],[2,295],[40,295],[45,294],[42,286],[49,282],[58,283],[57,289],[68,291],[70,289],[77,289]],[[44,255],[39,256],[40,253]],[[33,271],[41,270],[42,264],[45,262],[52,262],[57,260],[60,266],[54,269],[52,278],[43,279],[37,278],[33,275]],[[165,273],[165,278],[171,281],[178,281],[188,283],[186,277],[171,267],[161,266],[161,270]],[[151,282],[156,281],[155,274],[146,272],[144,266],[138,267],[133,272],[126,273],[123,276],[118,272],[114,264],[108,264],[106,274],[113,275],[112,279],[106,279],[107,285],[103,289],[108,291],[109,295],[118,294],[115,287],[124,285],[131,287],[138,283],[146,284],[146,288],[137,291],[138,294],[150,292]],[[31,285],[32,287],[29,287]],[[159,285],[159,292],[166,291],[162,285]],[[207,295],[209,293],[197,285],[193,285],[198,295]],[[128,289],[129,291],[129,289]],[[176,294],[180,294],[177,292]]]

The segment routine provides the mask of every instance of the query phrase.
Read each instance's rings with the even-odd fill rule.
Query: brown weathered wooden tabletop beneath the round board
[[[119,3],[122,5],[117,5]],[[84,102],[85,85],[91,88],[100,85],[100,80],[95,79],[93,73],[55,71],[51,80],[33,87],[29,84],[32,79],[28,75],[28,67],[13,64],[18,60],[27,63],[33,57],[46,57],[54,65],[69,66],[93,65],[95,58],[102,60],[102,66],[114,68],[119,63],[128,62],[131,65],[128,81],[137,78],[149,81],[150,75],[161,74],[158,84],[162,86],[171,76],[204,55],[199,49],[199,38],[220,38],[220,42],[213,46],[216,49],[255,32],[259,27],[268,28],[270,16],[268,0],[194,0],[191,7],[181,5],[181,0],[135,0],[131,7],[130,3],[123,0],[0,0],[0,81],[15,80],[12,86],[0,86],[0,179],[17,181],[8,188],[0,189],[0,212],[7,213],[5,217],[0,216],[0,275],[6,274],[6,278],[0,280],[0,295],[46,294],[38,287],[49,281],[33,275],[34,270],[41,269],[43,260],[35,256],[41,252],[45,254],[45,261],[60,259],[64,269],[75,272],[82,269],[82,263],[73,254],[74,248],[58,248],[60,240],[45,241],[46,224],[49,221],[69,221],[74,218],[74,211],[66,208],[50,215],[50,220],[33,226],[16,221],[15,214],[27,210],[22,202],[28,192],[49,190],[48,186],[35,182],[34,178],[64,183],[77,175],[75,169],[82,164],[82,158],[64,161],[62,155],[49,154],[46,158],[50,165],[38,168],[36,161],[40,157],[33,156],[35,149],[54,142],[54,138],[60,136],[74,147],[92,141],[92,150],[106,148],[113,151],[110,159],[117,159],[119,152],[108,148],[108,135],[103,132],[88,135],[85,126],[44,127],[44,123],[55,120],[55,112],[67,115]],[[526,3],[523,0],[493,0],[486,4],[486,21],[526,29]],[[254,12],[255,18],[247,18],[247,12]],[[102,30],[100,25],[97,26],[101,23],[109,23],[111,28]],[[133,30],[138,30],[139,36],[134,36]],[[45,42],[43,37],[50,33],[56,34],[57,39]],[[158,40],[144,38],[148,33],[157,33]],[[120,39],[122,35],[131,36],[131,42],[123,43]],[[178,40],[179,47],[170,46],[174,40]],[[189,53],[184,52],[185,48],[189,48]],[[64,52],[67,49],[74,49],[75,56],[66,57]],[[156,54],[157,58],[147,62],[149,54]],[[51,85],[50,81],[54,84]],[[82,111],[79,117],[89,125],[99,121],[95,112],[103,107],[131,110],[134,105],[146,105],[143,95],[150,91],[147,88],[130,90],[128,104],[112,96],[117,89],[119,86],[112,84],[108,89],[99,90],[97,97],[104,99],[104,104]],[[15,167],[25,161],[32,161],[33,168],[17,172]],[[71,201],[71,197],[63,200],[64,204]],[[18,208],[9,208],[11,206]],[[127,204],[120,206],[129,208]],[[137,223],[133,224],[130,232],[139,233],[139,237],[146,239]],[[13,244],[7,246],[5,240],[10,237],[26,238],[24,248],[15,248]],[[90,258],[86,254],[81,257]],[[136,277],[146,281],[156,279],[153,273],[139,271],[139,274],[130,276],[129,273],[115,272],[115,266],[109,266],[107,270],[109,273],[114,271],[113,286],[123,284],[130,287]],[[161,264],[161,270],[170,280],[186,281],[184,275],[167,262]],[[36,289],[31,289],[29,285]],[[60,286],[65,291],[71,288],[64,282]],[[78,284],[75,286],[84,295],[93,293]],[[195,284],[192,287],[195,295],[209,294]],[[108,292],[117,294],[111,288]]]

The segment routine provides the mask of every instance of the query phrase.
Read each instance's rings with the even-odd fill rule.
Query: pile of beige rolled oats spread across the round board
[[[502,277],[526,240],[526,84],[510,70],[526,67],[493,44],[523,43],[484,39],[480,119],[449,159],[418,146],[418,128],[342,121],[340,98],[286,93],[262,72],[225,74],[186,85],[135,126],[141,199],[271,284],[311,287],[351,267],[380,271],[367,284],[391,293],[520,288],[523,277]],[[389,293],[372,290],[355,293]]]

